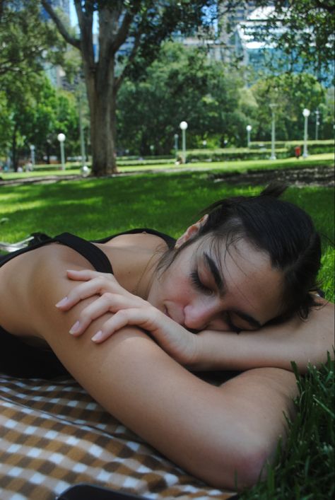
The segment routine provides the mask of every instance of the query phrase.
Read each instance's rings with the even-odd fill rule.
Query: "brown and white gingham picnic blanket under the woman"
[[[73,379],[0,374],[0,499],[54,500],[78,483],[150,499],[228,499],[107,414]]]

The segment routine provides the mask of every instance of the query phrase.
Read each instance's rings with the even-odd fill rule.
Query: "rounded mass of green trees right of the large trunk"
[[[309,137],[315,136],[315,110],[319,110],[321,122],[319,137],[332,136],[334,100],[314,76],[271,76],[246,88],[239,72],[231,66],[209,60],[202,50],[167,42],[158,59],[146,69],[146,77],[137,82],[127,79],[119,91],[119,151],[129,149],[130,144],[131,154],[141,156],[150,153],[151,145],[155,154],[172,152],[175,133],[180,136],[181,146],[182,120],[189,124],[187,149],[199,148],[204,140],[216,149],[225,144],[246,146],[247,124],[252,125],[253,141],[269,141],[271,100],[277,104],[277,147],[281,147],[278,142],[302,141],[302,110],[306,106],[312,110]],[[290,149],[288,155],[294,154],[291,146],[283,147]],[[321,153],[322,149],[313,144],[310,152]],[[199,159],[207,153],[200,155]]]

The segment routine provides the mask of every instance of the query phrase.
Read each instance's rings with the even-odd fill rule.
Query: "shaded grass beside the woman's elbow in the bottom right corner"
[[[241,500],[329,500],[334,498],[334,361],[305,377],[295,371],[299,395],[297,416],[288,421],[284,450],[279,444],[276,464],[266,481],[241,494]]]

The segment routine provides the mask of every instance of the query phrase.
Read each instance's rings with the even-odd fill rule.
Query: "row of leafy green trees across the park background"
[[[42,20],[41,4],[49,11],[55,24]],[[30,144],[35,145],[39,160],[58,154],[58,132],[66,134],[67,156],[78,156],[78,95],[74,89],[78,87],[79,75],[86,81],[88,99],[84,103],[84,124],[96,175],[114,168],[115,151],[129,151],[141,156],[152,152],[161,155],[171,153],[173,136],[179,132],[181,120],[189,123],[189,147],[199,147],[204,141],[208,146],[215,147],[245,146],[247,124],[252,125],[253,140],[269,140],[271,100],[278,105],[278,140],[300,139],[303,107],[312,110],[310,138],[314,138],[316,117],[313,111],[317,109],[321,117],[319,138],[332,136],[334,98],[314,76],[289,72],[278,76],[268,74],[251,85],[245,68],[213,62],[208,59],[206,50],[185,48],[177,42],[164,42],[177,29],[181,33],[190,33],[201,24],[206,28],[206,23],[208,28],[210,16],[204,19],[201,13],[204,12],[204,6],[213,7],[216,2],[198,1],[194,5],[191,3],[192,7],[186,0],[155,2],[154,6],[151,1],[136,1],[131,2],[133,10],[129,10],[127,1],[113,2],[113,7],[103,1],[76,1],[75,4],[81,31],[86,29],[92,34],[93,13],[98,11],[100,25],[102,21],[108,21],[110,16],[117,16],[113,36],[122,37],[124,41],[128,36],[133,36],[135,28],[138,28],[141,40],[136,42],[133,36],[131,52],[117,55],[121,38],[116,41],[110,39],[110,33],[100,33],[100,58],[95,60],[91,53],[83,53],[92,49],[91,37],[86,40],[85,47],[83,40],[78,47],[74,30],[66,24],[61,13],[47,6],[47,2],[1,0],[0,154],[5,156],[11,151],[14,165],[18,165],[18,154],[29,155]],[[237,4],[243,2],[227,2],[227,8]],[[319,2],[310,1],[309,4],[315,8]],[[119,10],[113,10],[115,8]],[[278,5],[278,11],[280,8]],[[321,10],[319,8],[315,20],[320,21],[320,16],[325,19],[325,13],[331,21],[329,8],[328,4]],[[217,10],[213,9],[213,12],[216,14]],[[124,16],[127,16],[127,26],[124,25]],[[162,30],[159,22],[163,19],[166,25]],[[311,27],[310,33],[313,33],[313,18],[307,21]],[[122,26],[123,31],[118,31],[122,30]],[[72,44],[72,51],[66,50],[65,40]],[[102,40],[108,41],[109,48],[105,47]],[[326,60],[322,59],[322,54],[322,47],[315,50],[315,64]],[[309,54],[308,57],[309,64],[312,64],[312,56]],[[85,69],[85,64],[89,63],[91,66]],[[68,91],[56,90],[51,85],[45,76],[47,64],[61,64],[66,71]],[[100,109],[99,120],[105,120],[111,128],[107,130],[102,127],[97,134],[92,130],[92,127],[98,127],[97,117],[92,120],[92,109],[98,106],[96,79],[100,79],[99,85],[102,87],[107,86],[109,81],[107,74],[105,80],[101,80],[106,64],[110,65],[108,71],[113,74],[112,87],[117,86],[117,92],[109,98],[105,95],[109,99],[108,106]],[[97,71],[100,71],[100,76]],[[93,72],[94,78],[88,75],[90,72]],[[95,95],[95,103],[90,91]],[[92,141],[94,144],[89,144]],[[102,156],[95,153],[98,146],[105,149]],[[111,151],[112,163],[107,158]]]

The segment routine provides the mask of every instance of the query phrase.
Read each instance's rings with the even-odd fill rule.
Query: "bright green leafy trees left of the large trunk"
[[[17,79],[8,73],[2,78],[2,85],[5,92],[0,94],[0,107],[4,110],[0,152],[5,156],[11,151],[15,168],[19,155],[26,160],[30,157],[30,144],[35,145],[37,160],[59,154],[59,132],[66,134],[66,151],[78,154],[78,110],[74,95],[57,91],[46,76],[38,74]]]

